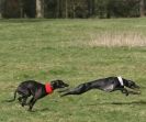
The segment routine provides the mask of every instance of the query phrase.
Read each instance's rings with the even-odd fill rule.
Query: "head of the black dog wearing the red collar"
[[[59,79],[50,81],[50,85],[54,89],[65,88],[69,86],[68,84],[65,84],[63,80]]]

